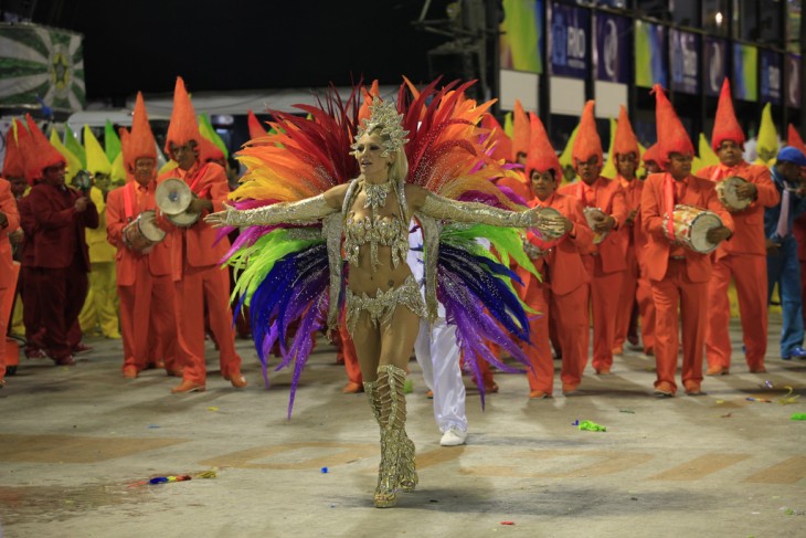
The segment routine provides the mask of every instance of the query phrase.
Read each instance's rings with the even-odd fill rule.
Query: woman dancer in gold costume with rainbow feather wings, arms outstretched
[[[234,207],[205,218],[248,226],[229,262],[244,270],[236,293],[250,306],[264,376],[276,340],[278,368],[295,363],[289,413],[311,333],[335,327],[346,304],[381,429],[379,508],[394,506],[399,488],[417,484],[403,382],[420,317],[433,319],[438,294],[476,376],[479,357],[512,370],[489,354],[488,341],[528,363],[508,334],[528,340],[507,253],[531,264],[512,229],[563,231],[539,210],[520,211],[490,183],[502,171],[476,125],[491,103],[467,98],[469,84],[436,91],[434,82],[423,92],[406,84],[397,106],[373,86],[362,106],[356,88],[346,103],[332,92],[319,107],[299,106],[309,119],[273,113],[274,134],[241,151],[248,172],[232,196]],[[406,264],[412,217],[425,238],[425,302]],[[478,246],[478,236],[491,241],[503,263]]]

